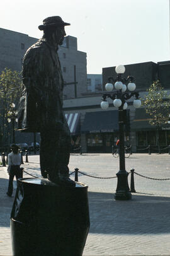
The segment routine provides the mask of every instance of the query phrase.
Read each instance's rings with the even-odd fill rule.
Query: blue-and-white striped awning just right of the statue
[[[65,113],[65,119],[69,125],[71,134],[80,133],[80,113]]]

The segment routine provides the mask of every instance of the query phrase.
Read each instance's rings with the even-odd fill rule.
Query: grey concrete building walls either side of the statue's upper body
[[[3,28],[0,28],[0,38],[0,72],[5,67],[13,71],[21,71],[26,50],[38,39]],[[68,36],[65,37],[63,46],[59,47],[58,54],[66,83],[74,82],[74,66],[76,66],[77,97],[82,96],[82,93],[87,91],[86,52],[77,50],[76,37]],[[74,84],[65,86],[64,95],[65,98],[74,98]]]

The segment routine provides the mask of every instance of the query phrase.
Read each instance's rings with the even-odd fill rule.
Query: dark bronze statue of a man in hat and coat
[[[69,178],[71,136],[62,111],[64,80],[57,50],[65,37],[60,16],[43,20],[38,26],[43,37],[32,45],[23,59],[23,92],[18,108],[18,130],[40,132],[42,176],[55,183],[75,185]]]

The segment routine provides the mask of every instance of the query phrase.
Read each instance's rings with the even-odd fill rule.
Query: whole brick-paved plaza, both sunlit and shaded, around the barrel
[[[29,156],[28,160],[23,165],[26,172],[40,176],[39,156]],[[69,167],[71,172],[79,168],[88,175],[115,177],[119,160],[111,154],[72,154]],[[170,155],[132,154],[126,159],[127,172],[131,168],[147,177],[170,178]],[[79,181],[89,185],[91,219],[83,256],[170,255],[170,180],[135,175],[132,201],[114,200],[116,178],[79,174]],[[130,175],[128,181],[130,184]],[[0,255],[11,256],[9,216],[14,196],[6,196],[7,185],[6,167],[0,167]]]

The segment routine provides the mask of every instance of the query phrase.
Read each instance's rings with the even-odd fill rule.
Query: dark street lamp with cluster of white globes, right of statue
[[[106,98],[113,100],[113,105],[118,108],[118,124],[119,124],[119,139],[120,139],[120,170],[116,173],[118,177],[118,183],[116,187],[115,199],[116,200],[129,200],[132,198],[128,187],[128,172],[125,170],[125,149],[124,149],[124,124],[123,110],[127,109],[128,104],[126,100],[135,97],[133,100],[133,106],[139,108],[141,101],[139,100],[139,93],[135,92],[135,83],[132,76],[128,76],[127,79],[122,78],[122,74],[125,73],[125,67],[123,65],[116,66],[115,69],[117,76],[116,79],[112,77],[108,78],[106,83],[106,91],[110,93],[103,94],[103,101],[101,102],[101,108],[106,109],[109,106]],[[113,90],[113,83],[116,91]],[[129,92],[125,92],[128,89]],[[112,92],[111,92],[112,91]]]

